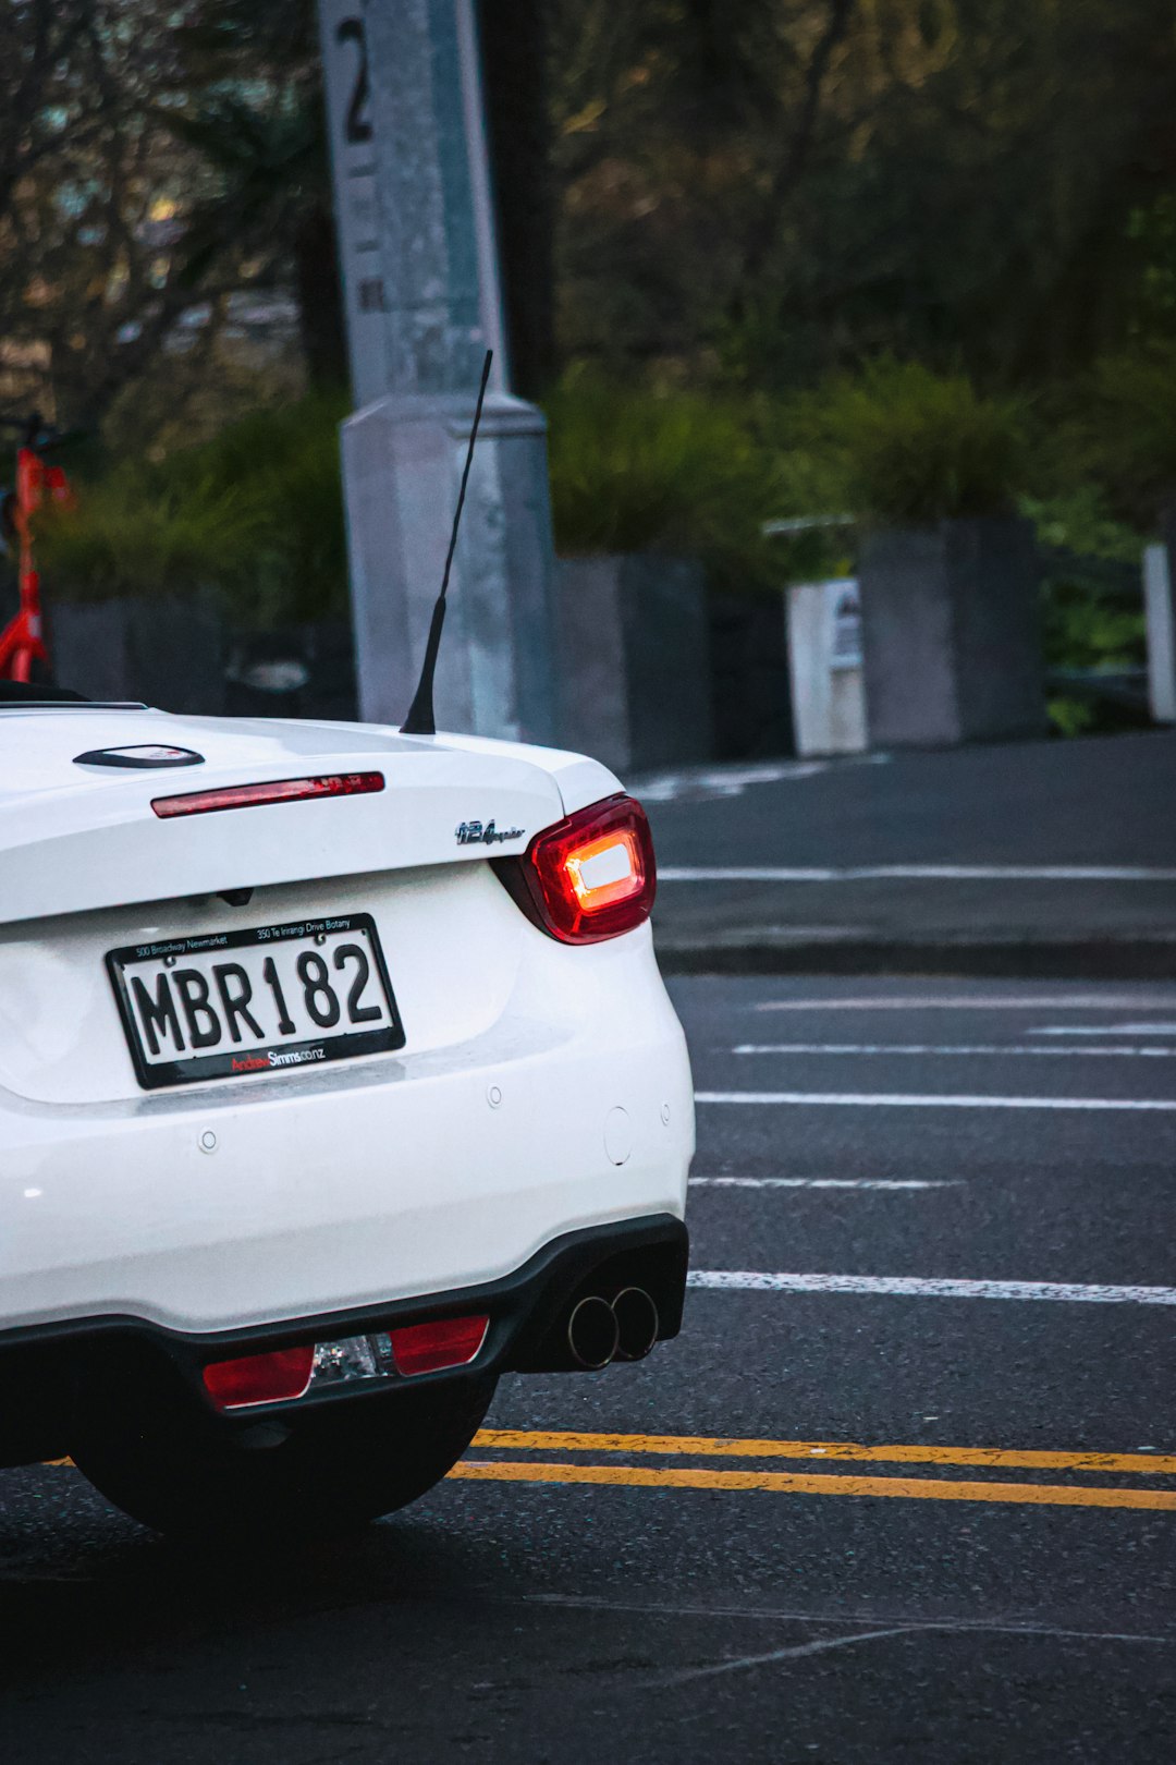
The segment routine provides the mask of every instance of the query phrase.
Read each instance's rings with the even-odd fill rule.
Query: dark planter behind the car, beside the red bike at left
[[[219,717],[226,710],[226,632],[213,595],[58,600],[48,625],[62,687],[166,711]]]

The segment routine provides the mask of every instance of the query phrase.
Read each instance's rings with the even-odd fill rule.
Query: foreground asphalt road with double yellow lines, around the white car
[[[5,1765],[1172,1758],[1176,987],[674,990],[682,1338],[346,1548],[2,1476]]]

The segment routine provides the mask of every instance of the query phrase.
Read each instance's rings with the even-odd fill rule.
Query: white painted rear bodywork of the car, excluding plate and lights
[[[141,741],[205,759],[74,764]],[[153,794],[358,771],[386,791],[152,812]],[[494,817],[518,830],[495,856],[522,851],[571,812],[568,778],[612,794],[601,773],[347,724],[5,710],[0,1327],[120,1315],[236,1333],[494,1281],[569,1230],[681,1218],[691,1077],[649,927],[584,948],[541,937],[490,847],[455,837]],[[247,907],[217,897],[242,879]],[[402,1050],[145,1096],[108,951],[360,913]],[[629,1119],[624,1165],[605,1151],[610,1108]]]

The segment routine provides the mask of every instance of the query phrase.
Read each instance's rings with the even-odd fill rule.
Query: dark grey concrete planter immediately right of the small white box
[[[862,542],[869,745],[952,747],[1046,731],[1028,521],[943,521]]]

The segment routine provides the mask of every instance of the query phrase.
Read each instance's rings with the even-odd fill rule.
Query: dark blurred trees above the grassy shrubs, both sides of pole
[[[1171,0],[478,0],[515,381],[1072,381],[1176,334]],[[5,0],[0,372],[212,376],[242,289],[344,379],[314,0]]]

